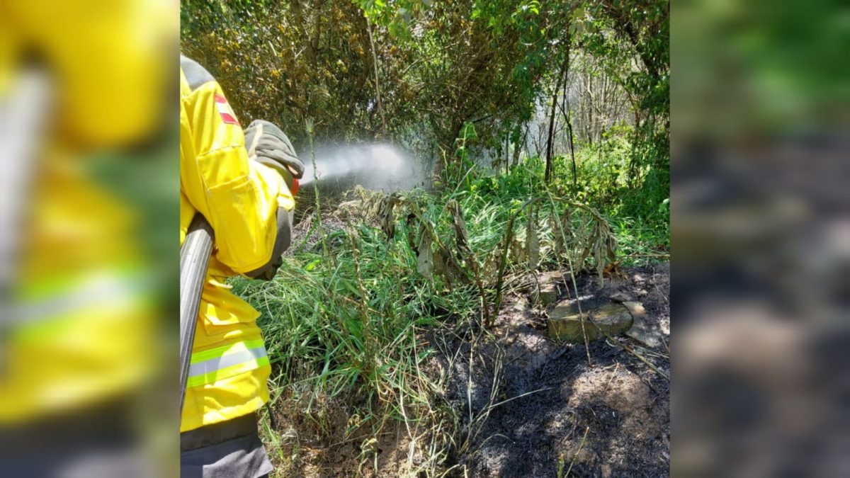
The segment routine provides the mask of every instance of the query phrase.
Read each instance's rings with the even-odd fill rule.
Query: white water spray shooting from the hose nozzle
[[[321,189],[344,191],[361,185],[374,191],[405,191],[429,187],[430,178],[409,153],[393,145],[357,144],[319,146],[315,150]],[[314,181],[312,158],[303,155],[302,187]]]

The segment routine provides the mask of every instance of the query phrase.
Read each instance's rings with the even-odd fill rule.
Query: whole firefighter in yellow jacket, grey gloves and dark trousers
[[[180,423],[182,476],[254,478],[272,470],[257,428],[270,373],[259,313],[226,280],[275,275],[291,240],[301,174],[279,128],[257,121],[243,132],[221,86],[181,55],[180,243],[196,213],[215,237]]]

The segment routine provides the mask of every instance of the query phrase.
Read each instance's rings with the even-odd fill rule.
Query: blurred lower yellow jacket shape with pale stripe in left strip
[[[0,319],[0,424],[138,394],[156,363],[132,209],[66,160],[50,156],[39,170],[42,192],[32,197],[18,282]]]

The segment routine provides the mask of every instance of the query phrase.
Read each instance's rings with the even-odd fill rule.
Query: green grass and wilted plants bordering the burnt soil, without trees
[[[342,226],[294,248],[273,281],[231,282],[262,314],[273,367],[263,438],[279,476],[301,469],[311,444],[347,442],[357,471],[373,473],[377,442],[399,425],[405,473],[439,475],[464,438],[439,398],[445,373],[423,371],[428,332],[485,333],[501,291],[535,270],[601,276],[666,250],[666,228],[650,225],[657,217],[605,216],[587,194],[542,185],[539,160],[498,176],[445,174],[456,187],[439,193],[357,191],[353,208],[338,211]]]

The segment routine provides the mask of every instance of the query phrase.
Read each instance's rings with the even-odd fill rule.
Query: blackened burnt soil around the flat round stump
[[[601,289],[596,276],[580,276],[577,285],[582,300],[641,301],[665,343],[646,350],[625,336],[615,339],[669,375],[669,265],[622,270]],[[502,304],[491,332],[475,343],[436,344],[443,353],[433,367],[449,375],[445,399],[463,430],[449,460],[453,474],[556,476],[571,464],[578,476],[669,475],[666,378],[611,340],[587,350],[553,342],[545,311],[522,293]]]

